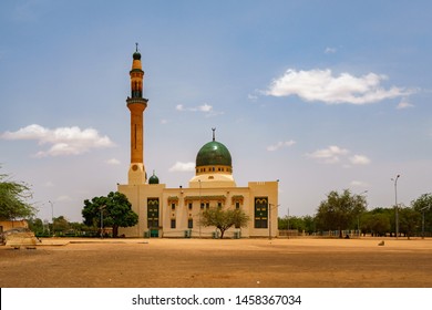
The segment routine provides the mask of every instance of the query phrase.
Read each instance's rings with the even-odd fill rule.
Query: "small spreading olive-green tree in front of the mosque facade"
[[[208,227],[215,226],[220,231],[220,239],[230,227],[247,227],[249,217],[241,209],[223,209],[222,207],[212,207],[205,209],[200,216],[199,224]]]

